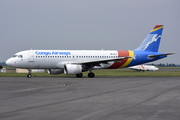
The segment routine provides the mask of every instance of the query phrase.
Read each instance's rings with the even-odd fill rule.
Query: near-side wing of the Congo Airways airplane
[[[104,59],[104,60],[82,61],[79,63],[72,63],[72,64],[80,64],[87,67],[94,67],[94,66],[101,66],[100,65],[101,63],[108,64],[108,62],[121,62],[120,60],[128,59],[128,58],[132,58],[132,57],[127,56],[127,57],[118,57],[118,58],[113,58],[113,59],[109,58],[109,59]]]

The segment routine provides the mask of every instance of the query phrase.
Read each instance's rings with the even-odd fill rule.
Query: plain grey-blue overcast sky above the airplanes
[[[180,64],[180,0],[0,0],[0,62],[30,49],[134,50],[164,25],[153,62]]]

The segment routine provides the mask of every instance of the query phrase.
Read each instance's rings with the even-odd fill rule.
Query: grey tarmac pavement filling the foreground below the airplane
[[[0,120],[180,120],[180,77],[0,77]]]

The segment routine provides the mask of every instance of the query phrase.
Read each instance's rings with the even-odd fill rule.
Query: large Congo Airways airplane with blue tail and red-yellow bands
[[[156,25],[140,46],[135,50],[25,50],[16,53],[6,61],[15,68],[48,69],[49,74],[76,75],[89,71],[88,77],[94,78],[92,70],[116,69],[140,65],[167,57],[173,53],[159,53],[163,25]]]

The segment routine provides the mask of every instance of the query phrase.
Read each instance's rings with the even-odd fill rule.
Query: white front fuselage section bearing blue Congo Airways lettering
[[[25,69],[64,69],[66,63],[107,60],[117,58],[117,51],[93,50],[27,50],[18,52],[7,60],[12,67]],[[114,62],[95,66],[93,69],[108,68]]]

